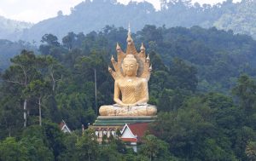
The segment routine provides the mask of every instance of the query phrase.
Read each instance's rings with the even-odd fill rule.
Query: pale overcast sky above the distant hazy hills
[[[70,14],[70,8],[84,0],[0,0],[0,15],[13,20],[24,20],[37,23],[40,20],[55,17],[59,10],[63,14]],[[88,1],[88,0],[87,0]],[[143,0],[133,0],[142,2]],[[160,9],[160,0],[146,0]],[[193,3],[221,3],[224,0],[192,0]],[[241,0],[233,0],[240,2]],[[130,0],[118,0],[120,3],[129,3]]]

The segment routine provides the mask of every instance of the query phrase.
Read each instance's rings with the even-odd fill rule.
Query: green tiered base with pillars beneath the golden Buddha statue
[[[99,116],[95,123],[90,126],[96,131],[97,141],[102,142],[102,137],[106,135],[116,136],[116,132],[120,132],[125,124],[152,123],[157,116]]]

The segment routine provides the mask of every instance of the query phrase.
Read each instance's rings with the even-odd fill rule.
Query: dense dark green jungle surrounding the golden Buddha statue
[[[216,28],[144,26],[132,35],[153,64],[148,103],[159,111],[137,153],[119,139],[98,145],[93,131],[81,135],[99,106],[113,104],[108,65],[126,37],[114,26],[45,34],[40,55],[13,57],[1,74],[0,160],[256,159],[256,41]],[[58,128],[62,119],[73,134]]]

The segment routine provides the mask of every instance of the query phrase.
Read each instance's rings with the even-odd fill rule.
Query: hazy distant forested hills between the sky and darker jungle
[[[106,25],[127,27],[131,23],[134,32],[145,25],[157,26],[216,26],[226,31],[245,33],[255,37],[255,1],[243,0],[241,3],[227,1],[214,6],[188,0],[162,1],[161,10],[155,11],[151,3],[117,3],[113,0],[94,0],[79,3],[69,15],[59,14],[55,18],[43,20],[23,32],[23,40],[39,42],[45,33],[63,37],[67,32],[100,31]],[[111,10],[111,12],[109,12]],[[97,11],[97,12],[95,12]],[[61,30],[60,30],[61,29]]]

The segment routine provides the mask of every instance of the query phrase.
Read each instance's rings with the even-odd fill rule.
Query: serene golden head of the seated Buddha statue
[[[134,55],[126,55],[122,64],[123,72],[125,76],[136,77],[138,63]]]

